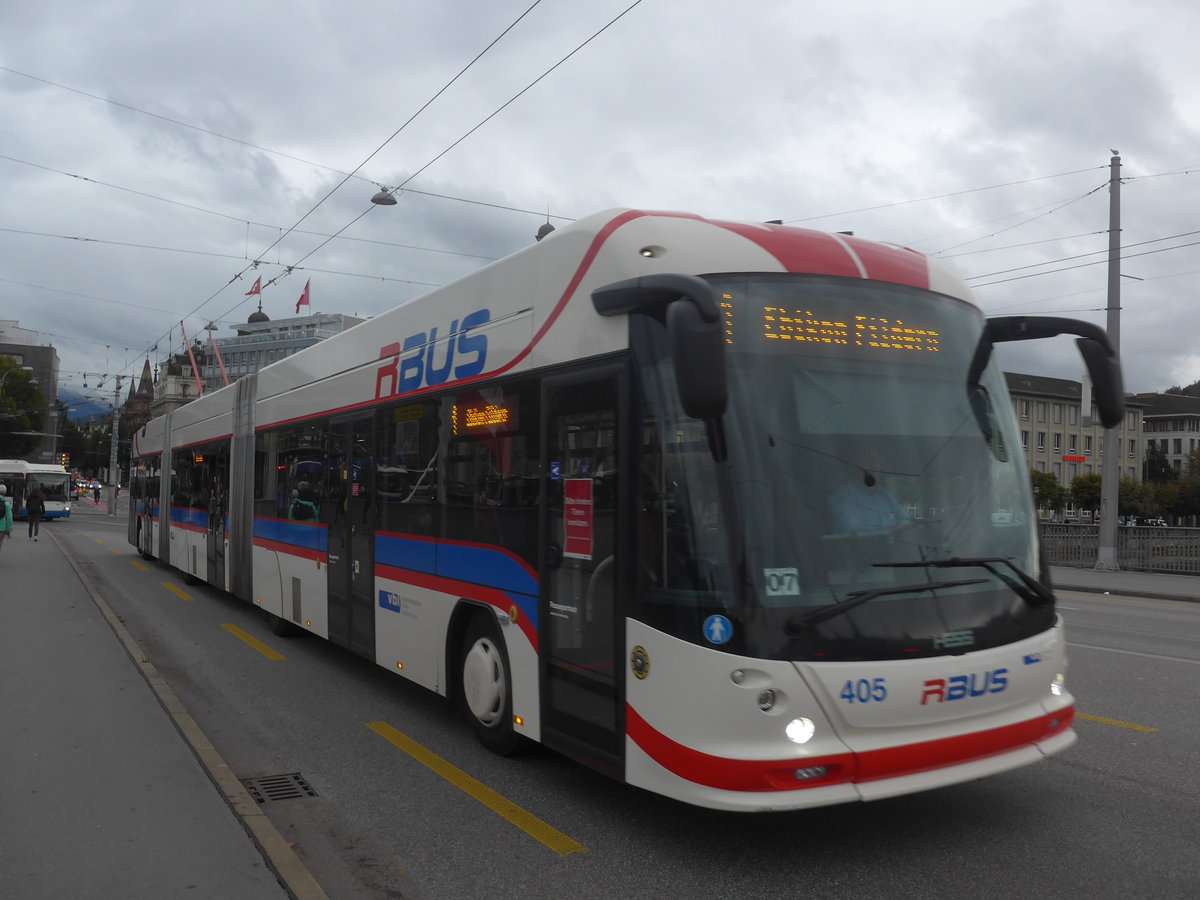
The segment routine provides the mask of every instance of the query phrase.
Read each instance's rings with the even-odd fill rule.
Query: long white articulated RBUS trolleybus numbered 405
[[[935,262],[614,210],[152,420],[130,541],[541,742],[727,810],[1068,748],[997,342]]]

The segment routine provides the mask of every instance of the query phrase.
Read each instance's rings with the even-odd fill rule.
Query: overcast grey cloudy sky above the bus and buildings
[[[1103,324],[1118,150],[1126,385],[1163,390],[1200,379],[1196,34],[1192,0],[7,2],[0,318],[110,397],[259,275],[271,318],[308,280],[372,316],[640,206],[853,230],[989,313]],[[1067,338],[1001,361],[1080,372]]]

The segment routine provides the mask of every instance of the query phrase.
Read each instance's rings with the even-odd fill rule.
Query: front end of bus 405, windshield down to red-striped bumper
[[[708,276],[728,402],[686,415],[631,316],[646,427],[625,778],[788,809],[974,779],[1074,740],[1003,376],[970,302],[862,278]],[[982,364],[980,364],[982,365]]]

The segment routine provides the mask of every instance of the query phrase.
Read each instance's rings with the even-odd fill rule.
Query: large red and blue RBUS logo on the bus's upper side
[[[484,371],[487,361],[487,335],[468,335],[473,328],[486,325],[492,318],[487,310],[476,310],[450,323],[449,337],[438,344],[436,328],[418,331],[403,341],[379,348],[379,359],[389,361],[376,372],[376,400],[384,400],[397,394],[408,394],[420,388],[444,384],[455,378],[469,378]],[[415,354],[401,361],[401,355],[409,350]],[[439,352],[445,352],[444,359],[437,359]],[[456,365],[457,362],[457,365]],[[384,389],[384,382],[389,382]]]

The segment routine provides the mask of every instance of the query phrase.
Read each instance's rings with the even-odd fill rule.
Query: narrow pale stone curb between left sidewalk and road
[[[120,638],[126,654],[128,654],[138,671],[142,672],[142,677],[146,679],[146,684],[150,685],[150,690],[154,691],[158,703],[167,712],[167,715],[170,716],[175,728],[182,736],[184,740],[187,742],[187,745],[192,749],[196,758],[209,774],[217,790],[221,791],[229,809],[233,810],[234,815],[238,816],[250,833],[251,839],[258,846],[259,852],[275,872],[283,889],[295,900],[329,900],[329,896],[322,889],[320,884],[317,883],[312,872],[308,871],[300,860],[300,857],[296,856],[292,846],[283,839],[283,835],[271,824],[271,821],[262,811],[258,803],[254,802],[254,798],[242,787],[241,781],[229,766],[221,758],[216,748],[212,746],[212,743],[200,730],[200,726],[196,724],[196,720],[184,707],[182,701],[180,701],[175,691],[158,674],[158,670],[155,668],[154,664],[142,650],[142,647],[133,638],[133,635],[128,632],[116,617],[116,613],[113,612],[100,589],[84,575],[78,563],[76,563],[74,557],[62,546],[62,541],[54,534],[50,534],[50,539],[62,552],[76,577],[79,578],[84,590],[88,592],[88,596],[96,604],[109,628]]]

